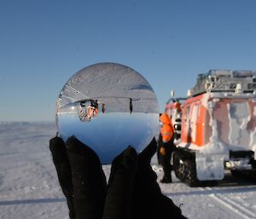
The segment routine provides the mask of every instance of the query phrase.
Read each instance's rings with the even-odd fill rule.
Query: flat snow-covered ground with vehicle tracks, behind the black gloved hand
[[[49,153],[54,123],[0,124],[0,218],[68,219]],[[152,160],[158,181],[162,170]],[[109,174],[110,166],[103,167]],[[173,175],[162,192],[188,218],[256,218],[256,184],[226,176],[216,187],[188,187]]]

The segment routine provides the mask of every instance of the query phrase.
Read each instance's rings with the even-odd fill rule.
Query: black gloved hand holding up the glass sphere
[[[127,147],[114,158],[108,185],[96,153],[75,137],[55,137],[49,148],[71,219],[185,218],[156,182],[154,139],[139,155]]]

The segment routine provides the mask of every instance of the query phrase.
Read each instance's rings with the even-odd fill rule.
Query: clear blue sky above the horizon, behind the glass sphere
[[[2,0],[0,121],[55,119],[75,72],[117,62],[140,72],[162,111],[209,69],[256,71],[254,0]]]

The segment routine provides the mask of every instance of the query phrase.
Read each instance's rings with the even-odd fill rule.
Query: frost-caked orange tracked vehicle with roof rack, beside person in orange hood
[[[180,179],[190,185],[218,181],[224,170],[255,177],[255,84],[251,71],[199,75],[181,112],[181,138],[173,157]]]

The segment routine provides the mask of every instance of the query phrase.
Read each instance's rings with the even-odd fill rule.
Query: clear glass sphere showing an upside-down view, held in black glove
[[[148,81],[116,63],[98,63],[76,72],[56,102],[61,138],[76,136],[102,164],[110,164],[128,146],[140,153],[156,134],[158,121],[158,101]]]

